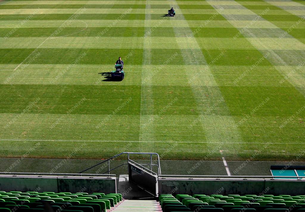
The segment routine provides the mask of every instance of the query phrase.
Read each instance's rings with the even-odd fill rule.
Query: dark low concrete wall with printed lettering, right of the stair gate
[[[159,179],[159,194],[289,194],[303,195],[304,181]]]

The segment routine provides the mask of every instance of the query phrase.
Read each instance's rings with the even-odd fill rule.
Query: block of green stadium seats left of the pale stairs
[[[122,201],[117,193],[0,191],[0,212],[42,212],[49,203],[54,211],[106,212]]]

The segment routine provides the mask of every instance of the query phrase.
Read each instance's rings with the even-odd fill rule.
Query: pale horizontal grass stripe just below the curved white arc
[[[76,32],[77,33],[77,32]],[[69,36],[63,35],[63,36]],[[95,48],[95,49],[260,49],[260,50],[305,50],[305,44],[295,38],[201,38],[185,43],[185,37],[14,37],[0,38],[1,48]],[[185,35],[186,36],[186,35]],[[47,41],[45,41],[47,39]],[[54,41],[56,41],[54,43]],[[96,45],[96,43],[99,45]],[[113,45],[115,43],[115,45]],[[260,43],[259,47],[252,44]],[[278,45],[281,43],[282,45]],[[148,61],[148,60],[145,60]]]

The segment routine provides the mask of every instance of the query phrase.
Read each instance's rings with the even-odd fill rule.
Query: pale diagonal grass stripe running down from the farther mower
[[[185,24],[188,24],[186,20]],[[189,27],[183,29],[184,31],[182,33],[185,35],[192,35],[192,30]],[[181,29],[174,28],[174,32],[175,34],[180,34]],[[200,48],[196,38],[192,36],[184,39],[184,43],[178,41],[177,43],[180,48],[183,48],[184,46],[187,46],[190,41],[193,42],[198,49]],[[190,48],[189,51],[181,50],[181,52],[185,63],[194,63],[198,67],[198,74],[188,75],[188,82],[192,87],[192,92],[196,99],[196,107],[200,111],[198,122],[201,123],[203,127],[206,140],[212,142],[221,141],[223,143],[242,141],[239,130],[235,125],[234,119],[230,116],[224,98],[217,86],[217,82],[215,81],[212,72],[210,72],[210,67],[202,66],[207,65],[202,51],[200,49],[195,50]],[[203,69],[203,67],[205,69]],[[188,74],[189,70],[185,70],[185,72]],[[206,74],[202,75],[201,72]],[[201,108],[206,106],[206,103],[210,105],[210,108],[207,111],[201,110]],[[223,113],[227,114],[227,116],[225,116],[226,118],[224,118],[224,116],[221,117],[219,113],[215,112],[219,108],[221,108]],[[206,114],[213,114],[214,116],[213,118],[207,119],[206,116],[204,116]],[[222,150],[223,146],[219,145],[210,148]]]

